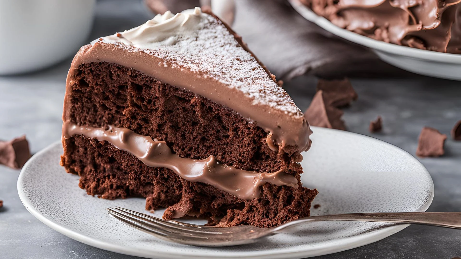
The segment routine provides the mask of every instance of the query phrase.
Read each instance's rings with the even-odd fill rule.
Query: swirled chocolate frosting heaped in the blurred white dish
[[[302,0],[333,24],[370,38],[461,53],[461,0]]]

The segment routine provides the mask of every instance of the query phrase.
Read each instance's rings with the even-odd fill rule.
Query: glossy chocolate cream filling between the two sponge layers
[[[126,128],[109,126],[108,130],[89,126],[78,126],[64,122],[63,137],[84,135],[98,141],[108,141],[118,149],[127,151],[152,167],[169,168],[190,182],[205,182],[243,200],[260,196],[260,186],[270,182],[277,186],[298,188],[296,177],[282,170],[272,173],[244,171],[233,166],[219,164],[214,156],[207,159],[181,158],[171,152],[165,141],[156,141],[149,136],[139,135]]]

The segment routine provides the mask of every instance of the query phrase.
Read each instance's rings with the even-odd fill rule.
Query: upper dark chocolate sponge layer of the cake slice
[[[80,70],[69,93],[72,123],[124,127],[166,141],[184,158],[214,155],[248,171],[302,171],[295,147],[272,151],[263,129],[225,106],[120,65],[90,63]]]

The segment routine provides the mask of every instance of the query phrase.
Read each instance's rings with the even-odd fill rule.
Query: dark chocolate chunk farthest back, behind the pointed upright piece
[[[357,100],[357,93],[349,79],[343,80],[323,80],[319,79],[317,83],[317,91],[322,90],[329,95],[329,105],[337,108],[348,106],[353,100]]]

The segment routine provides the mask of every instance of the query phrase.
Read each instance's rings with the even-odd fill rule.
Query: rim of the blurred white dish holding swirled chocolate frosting
[[[461,65],[461,54],[443,53],[378,41],[332,24],[328,19],[317,15],[310,8],[302,4],[300,0],[288,0],[288,2],[293,7],[293,9],[295,9],[295,11],[299,13],[303,18],[313,22],[314,24],[317,24],[322,29],[325,29],[331,34],[341,37],[345,40],[372,48],[376,51],[400,55],[412,59],[423,59],[439,63]]]

